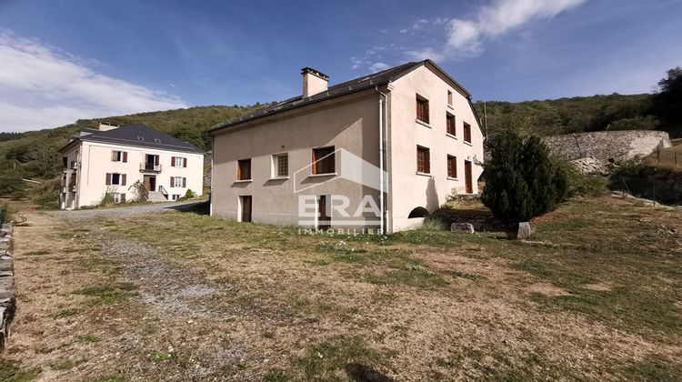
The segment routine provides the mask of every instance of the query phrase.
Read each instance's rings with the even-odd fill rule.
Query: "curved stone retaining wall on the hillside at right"
[[[549,149],[568,160],[592,157],[603,162],[621,162],[648,156],[657,147],[672,146],[665,131],[619,130],[546,136]]]

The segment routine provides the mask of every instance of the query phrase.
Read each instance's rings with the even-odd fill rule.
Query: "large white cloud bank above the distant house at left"
[[[0,30],[0,130],[187,107],[175,95],[97,73],[73,55]]]

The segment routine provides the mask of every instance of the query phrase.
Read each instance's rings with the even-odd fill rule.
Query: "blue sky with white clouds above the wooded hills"
[[[656,90],[682,0],[0,0],[0,131],[301,94],[431,58],[474,100]]]

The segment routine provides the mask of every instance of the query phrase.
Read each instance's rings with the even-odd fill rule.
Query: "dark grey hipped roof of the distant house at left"
[[[175,136],[169,136],[143,124],[125,125],[106,131],[85,129],[75,140],[100,141],[120,145],[152,147],[161,150],[203,153],[201,149],[190,143],[181,141]]]

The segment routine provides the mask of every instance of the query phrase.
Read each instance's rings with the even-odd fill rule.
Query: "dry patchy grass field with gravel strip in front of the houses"
[[[611,197],[533,242],[32,212],[0,379],[678,380],[682,217]],[[68,217],[72,216],[72,217]]]

